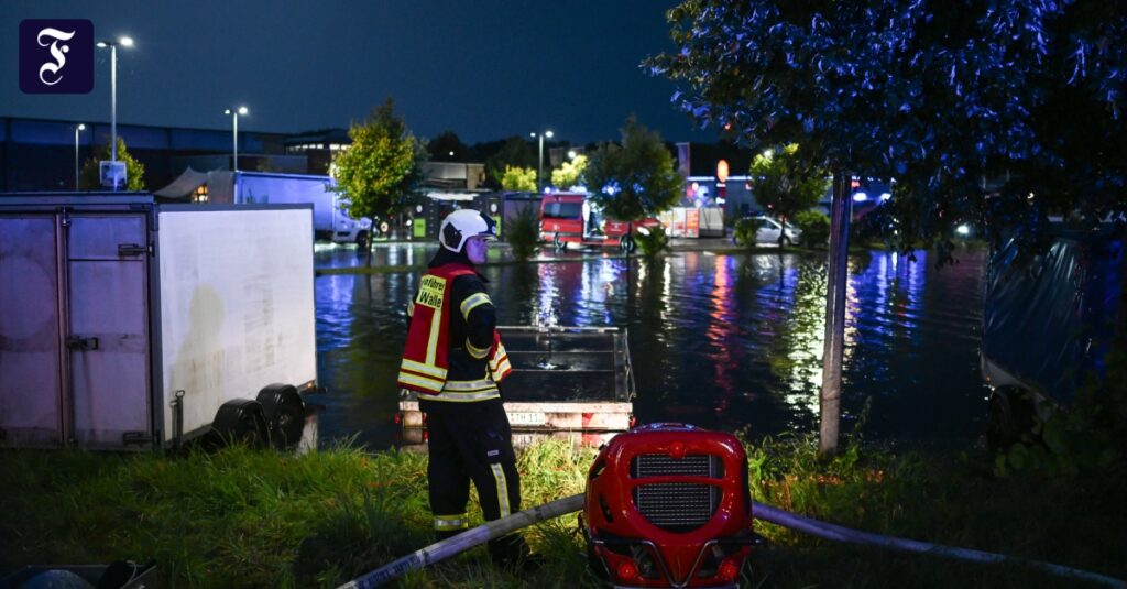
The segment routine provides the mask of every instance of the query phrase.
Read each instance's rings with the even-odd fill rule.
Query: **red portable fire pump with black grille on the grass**
[[[677,423],[619,434],[592,465],[579,522],[607,581],[733,587],[756,538],[743,446]]]

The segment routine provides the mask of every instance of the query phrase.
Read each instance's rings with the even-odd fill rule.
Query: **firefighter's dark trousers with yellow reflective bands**
[[[474,403],[423,401],[427,414],[431,512],[436,531],[449,536],[461,530],[442,530],[440,518],[464,517],[470,482],[478,490],[486,521],[521,510],[521,475],[516,472],[513,434],[500,399]],[[504,539],[503,539],[504,540]],[[506,557],[513,542],[490,543],[490,553]],[[521,543],[523,545],[523,543]],[[518,548],[514,548],[518,550]],[[516,557],[518,555],[512,555]]]

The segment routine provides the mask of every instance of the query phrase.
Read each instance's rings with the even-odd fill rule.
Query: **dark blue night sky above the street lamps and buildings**
[[[584,143],[618,139],[627,115],[668,141],[712,141],[669,103],[673,85],[642,72],[672,49],[673,0],[206,0],[0,2],[0,115],[109,121],[109,52],[88,95],[25,95],[25,18],[86,18],[118,49],[117,122],[240,130],[348,126],[388,96],[423,138],[463,142],[550,129]]]

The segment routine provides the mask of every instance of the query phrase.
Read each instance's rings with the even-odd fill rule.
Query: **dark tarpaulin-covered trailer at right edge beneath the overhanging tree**
[[[1121,308],[1124,243],[1113,223],[1097,231],[1049,227],[1051,244],[1027,265],[1009,240],[987,269],[982,373],[992,387],[987,442],[1004,448],[1038,417],[1068,405],[1103,357]]]

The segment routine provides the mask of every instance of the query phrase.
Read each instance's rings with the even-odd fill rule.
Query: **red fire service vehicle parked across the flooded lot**
[[[648,218],[631,223],[605,217],[582,192],[545,194],[540,201],[540,238],[557,249],[568,244],[578,246],[618,247],[633,252],[633,236],[641,227],[662,227],[657,219]],[[629,235],[628,235],[629,231]]]

